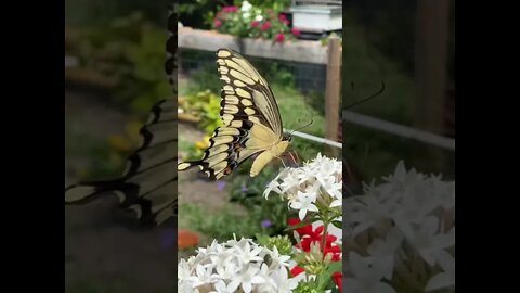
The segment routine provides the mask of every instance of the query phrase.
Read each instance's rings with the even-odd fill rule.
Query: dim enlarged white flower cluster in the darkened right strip
[[[413,278],[412,285],[429,280],[418,291],[453,288],[455,182],[406,171],[402,162],[384,179],[382,184],[365,187],[365,194],[346,199],[346,237],[355,243],[355,249],[347,249],[347,268],[352,270],[346,292],[368,292],[365,285],[377,282],[378,290],[399,292],[390,288],[392,280]]]

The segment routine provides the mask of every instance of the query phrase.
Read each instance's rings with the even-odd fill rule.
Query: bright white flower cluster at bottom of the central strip
[[[179,292],[266,293],[291,292],[298,281],[289,278],[289,256],[280,255],[250,239],[230,240],[198,249],[197,255],[178,265]]]

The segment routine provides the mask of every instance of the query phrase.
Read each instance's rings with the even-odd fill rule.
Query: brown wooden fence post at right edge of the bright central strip
[[[337,36],[332,36],[327,52],[327,81],[325,90],[325,138],[338,141],[339,99],[341,88],[341,51]],[[337,156],[338,150],[327,146],[326,153]]]

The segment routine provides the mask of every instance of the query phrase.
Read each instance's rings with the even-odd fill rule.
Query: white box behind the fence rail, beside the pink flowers
[[[341,7],[296,5],[290,8],[292,26],[302,31],[322,33],[342,28]]]

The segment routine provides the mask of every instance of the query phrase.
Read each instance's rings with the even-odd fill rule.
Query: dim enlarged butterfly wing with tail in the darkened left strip
[[[65,189],[65,204],[84,204],[100,196],[116,194],[120,207],[133,209],[139,221],[159,225],[178,214],[177,190],[177,18],[170,8],[170,33],[165,64],[174,99],[154,105],[141,128],[141,146],[129,156],[125,174],[115,180],[80,182]]]

